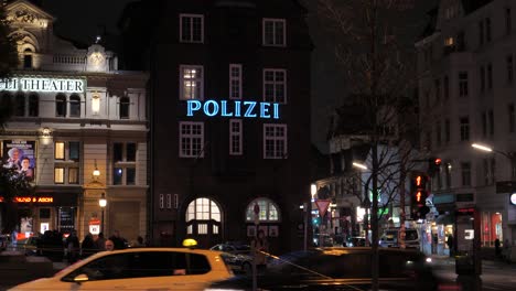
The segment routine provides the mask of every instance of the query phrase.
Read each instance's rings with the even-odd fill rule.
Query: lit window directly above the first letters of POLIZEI
[[[180,99],[203,99],[203,66],[180,66]]]

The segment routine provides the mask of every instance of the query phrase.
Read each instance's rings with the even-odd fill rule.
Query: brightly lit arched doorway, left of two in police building
[[[185,218],[186,237],[195,238],[200,247],[209,248],[221,241],[221,207],[214,201],[192,201],[186,208]]]

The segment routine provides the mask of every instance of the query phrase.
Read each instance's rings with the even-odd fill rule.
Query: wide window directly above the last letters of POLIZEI
[[[264,69],[264,101],[287,103],[287,71]]]

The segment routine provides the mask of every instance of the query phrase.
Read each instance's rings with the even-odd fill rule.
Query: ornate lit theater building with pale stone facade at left
[[[20,64],[0,80],[2,105],[13,109],[0,158],[35,187],[15,197],[18,230],[144,237],[148,75],[118,71],[101,40],[79,47],[57,37],[54,18],[29,1],[6,8]]]

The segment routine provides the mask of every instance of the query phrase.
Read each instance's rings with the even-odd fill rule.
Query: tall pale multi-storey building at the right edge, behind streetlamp
[[[475,207],[482,246],[516,242],[516,206],[501,187],[516,180],[515,13],[512,0],[441,0],[416,44],[421,140],[442,160],[433,203],[450,215]]]

